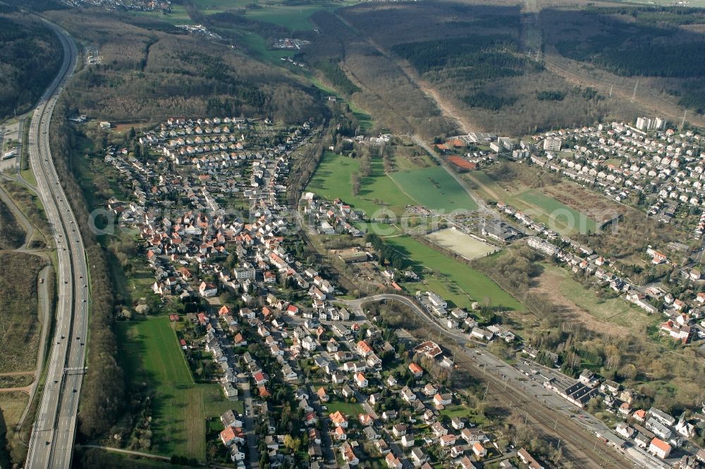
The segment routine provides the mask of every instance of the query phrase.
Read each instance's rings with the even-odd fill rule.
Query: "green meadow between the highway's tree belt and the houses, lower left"
[[[167,316],[118,323],[117,333],[130,385],[145,382],[154,394],[151,451],[203,461],[206,419],[237,403],[217,384],[194,382]]]

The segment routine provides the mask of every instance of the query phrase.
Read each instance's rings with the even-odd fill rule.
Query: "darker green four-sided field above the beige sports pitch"
[[[477,210],[477,204],[446,170],[440,166],[389,173],[398,187],[419,205],[450,213]]]

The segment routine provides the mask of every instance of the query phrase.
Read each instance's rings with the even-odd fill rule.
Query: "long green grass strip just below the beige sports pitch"
[[[491,305],[496,308],[523,308],[519,301],[479,270],[454,261],[411,237],[388,237],[384,242],[420,264],[416,270],[425,267],[433,271],[432,276],[424,276],[425,287],[419,282],[405,284],[412,292],[415,289],[429,289],[463,308],[470,308],[473,300],[482,302],[485,298],[489,298]]]

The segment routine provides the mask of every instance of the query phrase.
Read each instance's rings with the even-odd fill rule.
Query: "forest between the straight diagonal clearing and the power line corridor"
[[[586,87],[576,90],[575,85],[546,70],[534,56],[529,58],[522,44],[526,33],[522,13],[515,6],[453,1],[360,4],[341,8],[336,15],[379,46],[380,50],[365,51],[362,57],[355,54],[348,38],[340,39],[338,32],[344,25],[338,25],[336,37],[326,42],[331,51],[337,49],[345,57],[344,67],[355,75],[361,87],[374,91],[386,88],[379,73],[369,74],[368,79],[370,65],[380,70],[388,57],[400,65],[396,70],[386,69],[391,77],[384,79],[395,85],[393,93],[376,93],[384,98],[384,104],[378,106],[369,100],[376,109],[414,103],[406,99],[412,92],[396,86],[409,76],[422,87],[433,87],[472,130],[516,135],[556,126],[593,124],[605,116],[631,119],[640,112],[638,104],[603,99],[596,90]],[[317,24],[318,18],[314,15]],[[344,44],[337,44],[336,39]],[[541,92],[563,94],[564,98],[540,100],[539,97],[547,96]],[[356,102],[367,99],[358,96],[355,95]]]

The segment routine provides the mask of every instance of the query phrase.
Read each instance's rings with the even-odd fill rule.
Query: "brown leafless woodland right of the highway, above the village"
[[[102,65],[75,75],[68,87],[77,111],[111,121],[173,115],[268,115],[301,122],[325,115],[319,91],[299,77],[236,54],[204,47],[178,30],[146,29],[102,12],[52,12],[77,37],[97,44]]]

